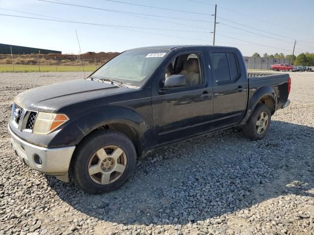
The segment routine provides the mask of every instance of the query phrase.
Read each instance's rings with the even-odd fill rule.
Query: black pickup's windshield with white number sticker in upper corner
[[[168,52],[164,49],[128,50],[108,61],[93,76],[140,87]]]

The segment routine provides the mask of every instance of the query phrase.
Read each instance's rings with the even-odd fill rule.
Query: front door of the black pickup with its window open
[[[153,96],[156,144],[167,143],[206,132],[212,121],[212,86],[200,51],[177,54],[164,68]],[[165,89],[167,77],[181,74],[186,85]]]

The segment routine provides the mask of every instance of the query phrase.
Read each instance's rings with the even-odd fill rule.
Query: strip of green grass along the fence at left
[[[93,65],[84,66],[84,71],[94,71],[96,68]],[[12,72],[12,71],[20,71],[20,72],[38,72],[38,65],[14,65],[14,70],[12,65],[10,64],[0,64],[1,72]],[[41,65],[41,72],[50,72],[56,71],[54,65]],[[80,66],[57,66],[57,71],[83,71],[83,68]]]

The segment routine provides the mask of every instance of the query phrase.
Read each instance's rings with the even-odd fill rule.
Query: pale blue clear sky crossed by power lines
[[[0,43],[77,54],[77,30],[82,53],[122,52],[130,48],[157,45],[212,45],[214,17],[211,15],[214,14],[214,4],[217,4],[219,24],[216,24],[215,45],[238,47],[245,56],[251,56],[254,52],[261,55],[276,52],[292,54],[294,40],[297,40],[295,55],[302,52],[314,53],[314,0],[285,0],[284,4],[279,0],[49,1],[131,13],[39,0],[0,0],[0,14],[107,25],[0,15]]]

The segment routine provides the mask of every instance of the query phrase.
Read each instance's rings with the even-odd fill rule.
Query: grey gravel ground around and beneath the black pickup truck
[[[118,190],[88,195],[23,165],[9,144],[15,95],[82,77],[0,73],[0,235],[314,234],[314,72],[262,141],[227,130],[157,150]]]

